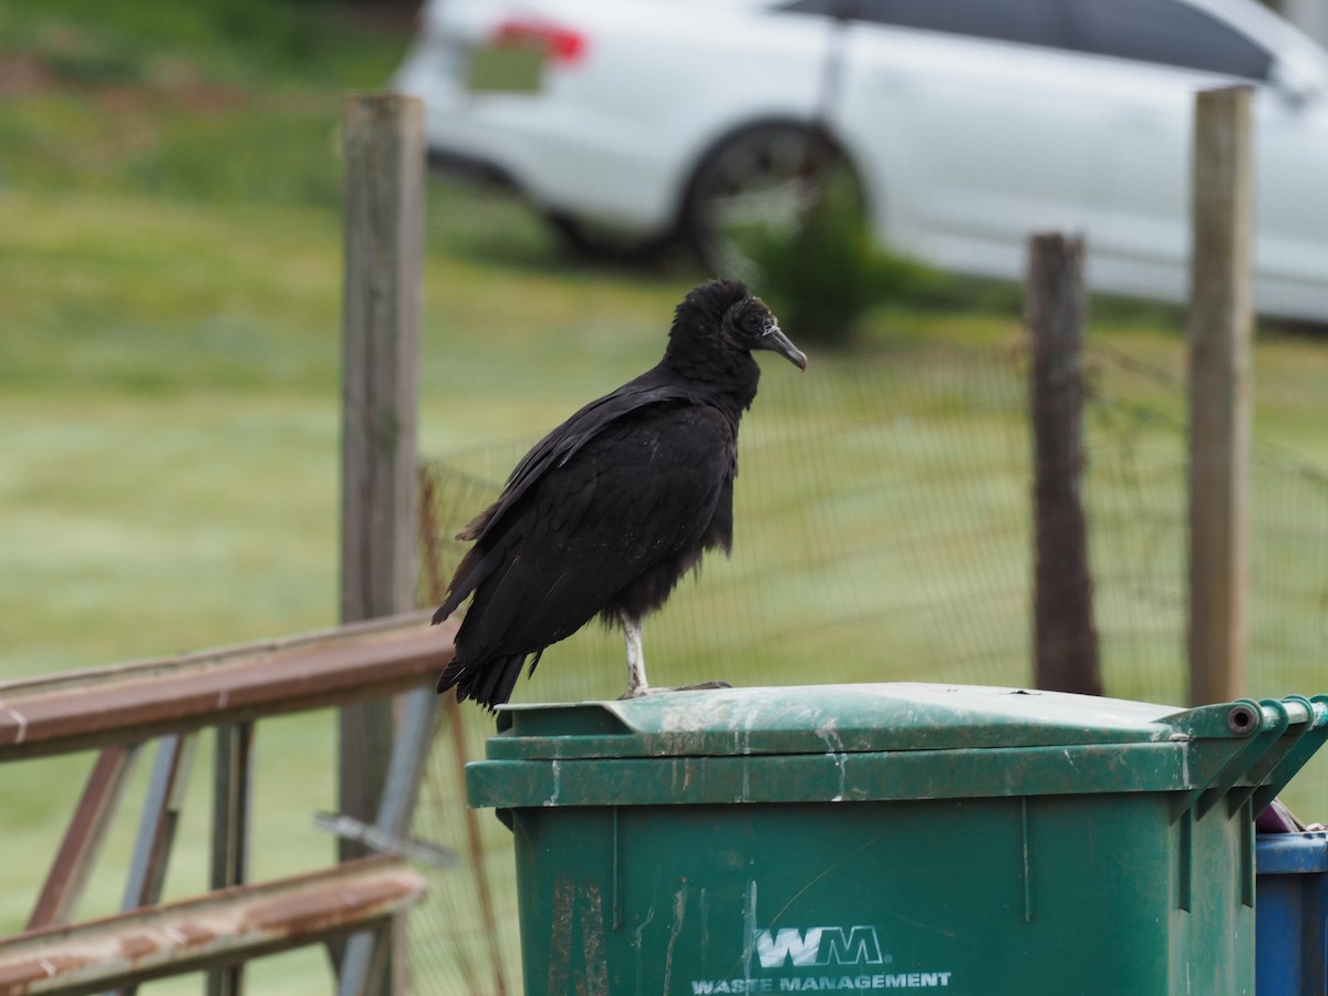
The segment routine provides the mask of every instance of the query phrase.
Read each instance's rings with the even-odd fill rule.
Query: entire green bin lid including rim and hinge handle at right
[[[466,769],[475,806],[1178,791],[1206,811],[1239,791],[1259,811],[1328,737],[1328,696],[1178,710],[954,684],[733,688],[507,705],[498,728]]]

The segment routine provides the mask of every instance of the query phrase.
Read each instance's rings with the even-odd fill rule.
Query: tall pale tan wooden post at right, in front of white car
[[[1190,703],[1242,695],[1254,223],[1248,86],[1198,94],[1190,284]]]

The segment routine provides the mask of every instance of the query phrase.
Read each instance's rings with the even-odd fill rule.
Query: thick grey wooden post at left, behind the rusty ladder
[[[352,96],[344,150],[341,622],[351,623],[416,603],[425,181],[420,100]],[[339,809],[373,823],[388,778],[392,701],[341,709],[339,732]],[[339,849],[341,861],[367,853],[345,838]],[[392,988],[390,967],[373,976],[363,980],[367,992]]]

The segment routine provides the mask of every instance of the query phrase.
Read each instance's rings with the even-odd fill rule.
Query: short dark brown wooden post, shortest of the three
[[[1032,337],[1033,647],[1038,688],[1101,695],[1084,515],[1084,243],[1028,240]]]

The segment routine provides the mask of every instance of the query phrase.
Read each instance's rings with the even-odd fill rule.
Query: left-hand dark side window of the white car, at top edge
[[[793,0],[782,9],[1028,45],[1064,42],[1054,0]]]

